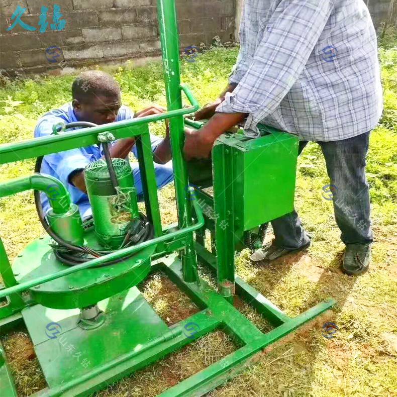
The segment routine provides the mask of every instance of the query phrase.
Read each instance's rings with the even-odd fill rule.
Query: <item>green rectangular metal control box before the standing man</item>
[[[299,139],[258,127],[258,138],[224,134],[213,148],[215,212],[232,215],[236,235],[293,210]]]

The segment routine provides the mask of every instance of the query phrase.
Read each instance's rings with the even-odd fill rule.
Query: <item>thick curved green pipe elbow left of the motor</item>
[[[54,213],[66,214],[70,210],[70,205],[72,204],[70,194],[63,183],[53,176],[40,173],[1,183],[0,197],[30,189],[46,193]]]

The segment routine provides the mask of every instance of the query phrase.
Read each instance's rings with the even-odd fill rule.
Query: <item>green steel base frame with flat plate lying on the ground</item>
[[[202,262],[214,265],[215,258],[211,253],[198,244],[195,248]],[[254,360],[256,353],[335,304],[334,300],[328,300],[295,318],[289,318],[258,291],[236,277],[237,293],[275,327],[267,333],[262,333],[203,279],[199,279],[198,282],[185,282],[182,263],[176,255],[157,260],[152,266],[152,271],[160,270],[190,297],[201,309],[200,312],[168,327],[136,287],[100,303],[99,306],[105,310],[110,321],[96,330],[84,331],[76,327],[78,310],[48,309],[40,305],[24,309],[22,316],[49,385],[34,395],[87,395],[163,358],[203,335],[221,329],[231,335],[241,347],[160,394],[169,397],[203,395],[243,370]],[[61,325],[62,331],[56,338],[46,335],[47,324],[43,323],[44,320],[42,324],[37,323],[37,319],[42,317],[35,315],[38,311],[46,313],[48,323],[57,320]],[[6,323],[11,325],[13,321],[20,321],[20,317],[17,315],[4,319],[0,322],[0,329]],[[184,328],[189,323],[195,324],[193,333],[186,332]],[[107,338],[109,333],[119,336]],[[65,340],[67,343],[63,346],[62,341]],[[110,345],[106,348],[108,342]],[[71,349],[73,351],[70,351]],[[78,352],[81,352],[81,355],[73,357]],[[85,362],[89,362],[86,368],[81,364],[83,358]],[[0,360],[6,363],[1,348]],[[16,395],[8,366],[0,366],[0,369],[1,395]]]

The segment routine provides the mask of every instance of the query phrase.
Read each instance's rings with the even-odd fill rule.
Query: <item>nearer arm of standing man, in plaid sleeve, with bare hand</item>
[[[206,124],[195,137],[201,146],[186,139],[186,158],[201,158],[207,152],[209,141],[215,141],[232,120],[227,114],[248,114],[246,129],[255,129],[266,115],[274,111],[282,98],[302,73],[331,14],[333,0],[282,0],[274,17],[273,28],[264,32],[249,68],[237,87],[226,93],[225,100],[216,109],[219,123]],[[218,112],[222,116],[217,116]],[[214,116],[215,117],[215,116]],[[223,126],[221,128],[221,126]],[[230,127],[229,127],[230,128]]]

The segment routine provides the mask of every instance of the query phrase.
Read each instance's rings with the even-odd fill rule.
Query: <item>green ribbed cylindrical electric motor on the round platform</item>
[[[139,219],[139,211],[130,163],[120,158],[112,159],[112,163],[118,181],[116,188],[104,159],[88,164],[84,179],[95,233],[104,247],[118,249],[130,222]]]

